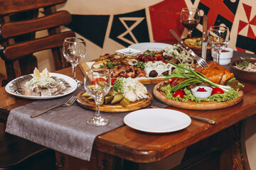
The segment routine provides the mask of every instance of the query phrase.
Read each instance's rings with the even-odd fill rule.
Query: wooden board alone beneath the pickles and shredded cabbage
[[[96,110],[95,101],[83,97],[82,94],[84,93],[85,91],[81,91],[78,94],[78,100],[77,100],[78,104],[82,108],[88,108],[92,111],[95,111]],[[149,93],[148,95],[149,95],[149,98],[143,98],[140,101],[131,102],[125,108],[122,107],[119,103],[115,105],[102,104],[102,106],[100,106],[100,111],[107,112],[107,113],[119,113],[119,112],[127,112],[127,111],[136,111],[136,110],[139,110],[140,108],[146,108],[146,106],[149,106],[153,101],[152,94]]]

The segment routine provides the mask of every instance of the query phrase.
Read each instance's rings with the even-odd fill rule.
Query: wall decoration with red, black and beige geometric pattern
[[[87,60],[134,43],[173,38],[169,34],[170,29],[185,38],[188,31],[182,26],[179,13],[186,6],[199,8],[201,16],[206,14],[208,27],[228,26],[231,34],[229,47],[242,52],[256,52],[255,0],[117,0],[110,4],[91,1],[91,6],[90,1],[86,4],[82,4],[83,0],[70,1],[62,7],[73,14],[73,21],[67,27],[87,40]],[[98,6],[98,10],[93,10],[94,6]],[[111,10],[105,10],[107,6],[111,6]],[[202,20],[192,35],[201,36],[201,32]]]

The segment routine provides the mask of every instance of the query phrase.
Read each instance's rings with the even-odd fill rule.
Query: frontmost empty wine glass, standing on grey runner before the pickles
[[[107,69],[88,69],[85,72],[85,90],[95,100],[95,117],[87,121],[90,125],[107,125],[108,120],[100,116],[100,102],[111,87],[111,76]]]

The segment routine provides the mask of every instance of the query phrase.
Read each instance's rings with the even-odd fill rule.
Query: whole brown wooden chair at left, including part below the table
[[[61,32],[60,26],[70,23],[72,17],[68,11],[56,9],[57,4],[65,1],[0,0],[0,55],[7,74],[3,86],[33,72],[37,67],[34,52],[50,49],[55,69],[68,67],[62,45],[65,38],[74,37],[75,33]],[[38,18],[40,11],[44,16]],[[47,30],[48,35],[36,38],[41,30]],[[5,133],[5,123],[0,119],[0,169],[55,169],[53,150]]]

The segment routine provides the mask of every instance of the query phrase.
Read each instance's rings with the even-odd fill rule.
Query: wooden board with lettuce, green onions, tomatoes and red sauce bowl
[[[215,110],[234,106],[244,96],[241,90],[243,85],[232,77],[232,73],[232,78],[225,84],[216,84],[191,68],[186,69],[178,65],[176,67],[173,74],[166,77],[168,80],[156,84],[153,89],[154,96],[170,106],[191,110]],[[204,96],[207,93],[208,96]]]

